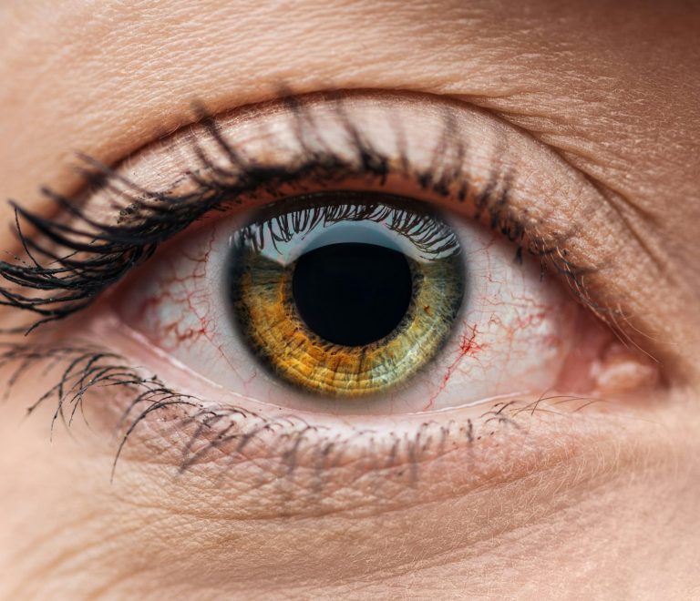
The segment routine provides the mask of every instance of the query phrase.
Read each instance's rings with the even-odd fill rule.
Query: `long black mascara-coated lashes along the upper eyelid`
[[[376,178],[380,185],[386,181],[392,160],[363,137],[350,117],[345,115],[342,104],[337,104],[338,116],[344,123],[354,152],[349,159],[322,143],[314,144],[314,139],[317,139],[314,138],[314,121],[307,115],[303,99],[286,97],[283,102],[290,109],[294,134],[303,150],[296,164],[265,165],[249,161],[223,137],[215,118],[200,109],[201,124],[216,142],[222,156],[229,161],[229,168],[215,164],[194,142],[203,166],[201,171],[211,174],[209,178],[202,178],[201,171],[184,174],[183,178],[196,183],[198,188],[194,191],[177,193],[141,188],[116,169],[83,157],[88,166],[84,175],[92,191],[108,189],[128,200],[126,209],[120,209],[117,225],[90,219],[80,209],[77,200],[48,188],[42,188],[44,196],[72,216],[74,223],[69,225],[46,219],[13,202],[15,229],[26,259],[0,261],[0,276],[15,285],[15,288],[0,287],[0,304],[36,313],[38,318],[26,328],[32,331],[43,323],[62,320],[86,308],[98,294],[148,260],[161,243],[210,211],[241,202],[242,197],[264,190],[274,198],[276,191],[284,185],[306,179],[325,185],[340,184],[352,177]],[[443,196],[454,194],[458,201],[464,201],[470,192],[468,178],[461,168],[467,147],[463,140],[449,136],[451,127],[453,116],[448,111],[430,168],[423,171],[411,168],[405,149],[400,149],[397,163],[402,166],[404,175],[414,178],[420,188]],[[568,258],[567,251],[562,248],[563,237],[550,239],[539,232],[529,231],[518,215],[510,210],[509,189],[508,175],[500,180],[494,175],[476,196],[474,218],[486,217],[491,229],[515,242],[518,260],[521,260],[523,250],[539,256],[543,270],[545,263],[549,264],[564,276],[580,300],[591,305],[594,311],[603,311],[592,303],[583,286],[582,277],[590,270],[575,265]],[[43,239],[27,235],[23,223],[36,229]],[[35,296],[26,290],[51,294]]]

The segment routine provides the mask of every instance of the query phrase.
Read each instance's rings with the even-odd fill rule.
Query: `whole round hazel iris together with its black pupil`
[[[307,392],[386,392],[448,341],[464,296],[458,237],[380,194],[285,200],[235,237],[230,300],[252,354]]]

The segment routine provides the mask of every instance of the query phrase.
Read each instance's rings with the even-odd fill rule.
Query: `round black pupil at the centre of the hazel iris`
[[[302,255],[292,286],[306,325],[324,340],[344,346],[364,346],[394,331],[413,292],[402,252],[355,242]]]

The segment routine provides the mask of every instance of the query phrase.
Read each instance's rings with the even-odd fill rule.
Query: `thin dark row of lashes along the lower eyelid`
[[[283,474],[292,474],[301,463],[301,457],[304,457],[304,465],[323,471],[343,464],[345,455],[352,449],[355,462],[357,449],[360,449],[362,463],[368,469],[396,468],[399,474],[403,474],[408,468],[408,477],[415,479],[419,463],[429,456],[448,451],[447,445],[454,445],[456,440],[477,443],[503,428],[524,433],[517,421],[520,414],[551,413],[552,404],[578,403],[572,407],[575,412],[601,402],[600,399],[577,396],[542,396],[534,402],[510,399],[490,402],[483,413],[464,423],[441,424],[424,420],[410,434],[362,429],[334,436],[328,432],[327,426],[308,423],[297,415],[272,418],[240,406],[209,404],[190,394],[173,391],[156,376],[144,377],[124,358],[90,344],[56,347],[5,345],[5,351],[0,352],[0,370],[8,368],[11,375],[5,397],[29,372],[41,369],[46,377],[48,372],[60,369],[57,383],[28,407],[28,413],[33,413],[51,399],[57,403],[51,423],[52,433],[58,420],[70,428],[78,414],[85,417],[84,402],[90,392],[107,388],[125,397],[125,402],[120,402],[125,409],[116,426],[118,447],[112,478],[139,423],[149,418],[161,424],[157,427],[167,429],[174,426],[178,433],[187,433],[184,437],[175,437],[181,446],[180,474],[197,463],[206,463],[212,457],[221,458],[221,455],[232,467],[250,460],[245,451],[256,446],[256,455],[266,457],[273,452],[281,458]],[[543,402],[549,403],[548,408],[540,407]],[[385,453],[381,453],[377,446],[381,446]]]

